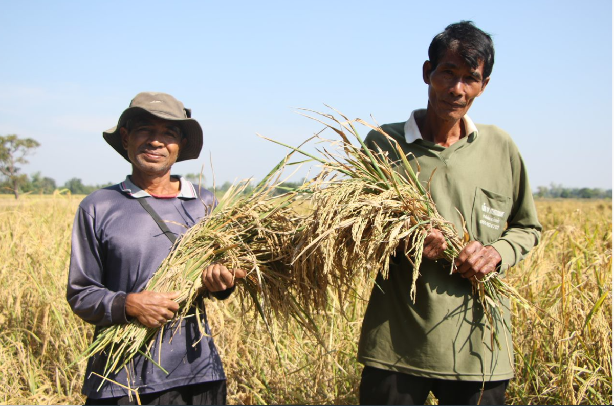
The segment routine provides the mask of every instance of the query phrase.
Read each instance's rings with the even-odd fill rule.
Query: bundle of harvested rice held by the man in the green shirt
[[[295,278],[314,286],[308,296],[303,297],[303,303],[323,309],[328,285],[343,297],[351,291],[356,277],[374,279],[381,272],[387,278],[391,256],[398,252],[397,249],[401,249],[418,270],[424,239],[431,229],[438,229],[445,237],[448,248],[443,257],[454,272],[454,259],[468,242],[467,231],[464,230],[461,237],[454,224],[437,212],[428,187],[421,185],[410,159],[397,142],[381,128],[363,120],[348,120],[341,115],[341,121],[334,115],[313,113],[330,120],[328,123],[310,117],[335,131],[341,141],[331,142],[334,151],[323,148],[321,156],[282,144],[322,164],[322,172],[301,188],[309,195],[314,208],[300,225],[292,263]],[[384,134],[398,151],[400,160],[391,161],[381,150],[370,151],[354,123]],[[358,140],[360,146],[352,145],[350,137]],[[413,272],[411,297],[414,301],[418,275]],[[491,327],[494,326],[494,312],[502,312],[502,296],[529,304],[500,280],[497,272],[479,281],[473,278],[471,282]],[[495,329],[491,331],[492,338],[499,343]]]

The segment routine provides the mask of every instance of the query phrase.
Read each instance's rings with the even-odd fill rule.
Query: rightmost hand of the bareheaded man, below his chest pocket
[[[478,241],[465,245],[459,256],[454,259],[456,272],[463,278],[475,277],[480,280],[499,266],[501,256],[490,245],[484,247]]]

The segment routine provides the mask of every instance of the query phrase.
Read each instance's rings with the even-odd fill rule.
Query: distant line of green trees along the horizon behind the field
[[[30,176],[21,173],[21,166],[27,164],[26,156],[40,147],[40,143],[31,138],[20,138],[15,134],[0,136],[0,194],[14,194],[18,199],[22,193],[52,194],[56,190],[69,191],[71,194],[90,194],[91,192],[111,186],[113,183],[99,185],[85,185],[80,178],[71,178],[63,185],[57,185],[55,180],[45,177],[41,172],[35,172]],[[204,179],[198,174],[184,175],[190,182],[201,183]],[[282,194],[287,190],[298,188],[303,182],[283,182],[274,191],[274,194]],[[224,182],[216,185],[216,193],[224,193],[232,183]],[[244,190],[249,193],[254,186],[249,185]],[[212,188],[212,187],[209,187]],[[612,189],[601,188],[566,188],[562,185],[551,183],[550,186],[538,186],[534,193],[536,198],[546,199],[612,199]]]

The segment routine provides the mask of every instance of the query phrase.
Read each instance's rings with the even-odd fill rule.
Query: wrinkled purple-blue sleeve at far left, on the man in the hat
[[[95,219],[79,207],[72,225],[68,304],[77,316],[96,326],[127,323],[126,293],[107,289],[104,278],[104,255],[96,236]]]

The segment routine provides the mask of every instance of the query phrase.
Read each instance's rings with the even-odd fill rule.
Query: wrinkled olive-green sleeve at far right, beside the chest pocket
[[[501,255],[501,274],[522,261],[531,248],[537,245],[542,233],[523,158],[516,145],[512,145],[510,150],[513,179],[511,213],[507,220],[507,229],[498,240],[489,244]]]

